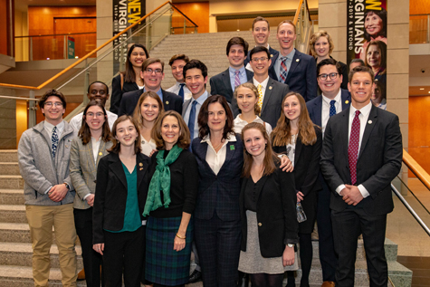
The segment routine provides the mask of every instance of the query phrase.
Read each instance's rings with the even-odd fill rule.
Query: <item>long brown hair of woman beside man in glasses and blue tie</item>
[[[290,143],[291,139],[291,123],[285,117],[283,106],[288,97],[296,96],[301,105],[301,115],[299,116],[299,138],[305,146],[313,145],[317,142],[317,134],[315,133],[314,125],[309,117],[306,101],[301,97],[301,94],[295,91],[290,91],[283,97],[281,117],[276,124],[276,128],[272,131],[272,145],[274,147],[285,146]]]

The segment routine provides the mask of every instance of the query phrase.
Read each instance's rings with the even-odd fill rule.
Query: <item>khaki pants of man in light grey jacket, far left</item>
[[[48,286],[50,248],[55,243],[60,257],[62,286],[76,286],[76,229],[73,205],[25,206],[33,246],[34,286]]]

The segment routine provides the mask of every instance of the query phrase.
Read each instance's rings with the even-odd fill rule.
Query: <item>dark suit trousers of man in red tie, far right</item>
[[[368,215],[363,208],[348,206],[331,211],[334,242],[339,254],[336,286],[354,286],[358,235],[363,234],[370,287],[387,286],[388,268],[384,250],[387,215]]]

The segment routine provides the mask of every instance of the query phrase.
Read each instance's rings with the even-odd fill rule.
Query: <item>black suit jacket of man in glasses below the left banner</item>
[[[119,106],[118,116],[129,115],[132,116],[134,109],[138,105],[139,98],[143,93],[143,89],[138,91],[126,92],[122,95],[121,104]],[[161,89],[163,94],[163,105],[164,110],[175,110],[179,114],[182,113],[182,99],[177,94],[170,91],[164,91]]]

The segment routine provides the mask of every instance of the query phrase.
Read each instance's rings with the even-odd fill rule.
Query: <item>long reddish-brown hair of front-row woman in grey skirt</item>
[[[259,122],[251,122],[244,126],[242,129],[242,140],[244,141],[244,132],[248,129],[257,129],[262,133],[263,138],[267,141],[265,154],[263,159],[263,176],[269,176],[273,171],[276,170],[275,161],[279,162],[279,158],[276,157],[272,150],[271,141],[269,139],[269,135],[267,134],[266,128],[264,125]],[[251,177],[251,167],[253,166],[253,156],[248,153],[245,148],[244,143],[244,168],[242,169],[242,177]]]

